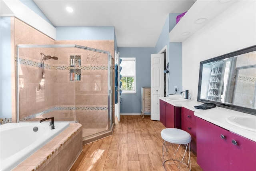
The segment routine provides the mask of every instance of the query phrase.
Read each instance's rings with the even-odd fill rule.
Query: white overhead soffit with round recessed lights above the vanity
[[[234,3],[234,0],[197,0],[169,33],[170,42],[183,42]]]

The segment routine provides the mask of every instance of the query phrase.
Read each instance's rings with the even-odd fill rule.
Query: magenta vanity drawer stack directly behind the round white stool
[[[194,116],[194,111],[182,107],[181,129],[190,133],[191,149],[196,153],[196,116]]]

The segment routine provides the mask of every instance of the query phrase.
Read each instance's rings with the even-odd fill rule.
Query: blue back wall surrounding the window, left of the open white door
[[[136,93],[122,93],[121,113],[140,113],[141,87],[150,87],[150,55],[155,48],[118,48],[120,58],[136,58]]]

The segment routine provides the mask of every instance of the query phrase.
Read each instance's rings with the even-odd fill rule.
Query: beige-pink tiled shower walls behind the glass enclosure
[[[12,24],[14,26],[12,27],[14,28],[12,59],[15,59],[16,44],[77,44],[114,54],[113,40],[54,41],[17,18],[12,18]],[[58,57],[58,60],[45,61],[44,82],[40,74],[42,68],[38,67],[41,62],[40,52]],[[70,81],[70,55],[81,56],[80,81]],[[97,60],[92,60],[95,57]],[[23,83],[20,91],[20,118],[29,119],[31,115],[44,111],[43,117],[54,114],[56,119],[80,120],[85,128],[106,127],[108,122],[107,54],[78,48],[22,48],[20,58],[23,60],[20,70],[24,72],[23,81],[20,80]],[[15,67],[12,66],[12,69],[15,70]],[[12,99],[15,104],[15,72],[12,74],[12,82]],[[43,83],[44,86],[42,86]],[[42,84],[41,89],[39,84]],[[39,89],[40,93],[37,91]],[[12,118],[16,118],[15,105],[12,109]]]

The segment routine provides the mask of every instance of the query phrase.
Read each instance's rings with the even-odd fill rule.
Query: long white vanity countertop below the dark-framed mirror
[[[179,95],[170,95],[169,97],[180,97]],[[255,115],[250,115],[247,113],[239,112],[239,111],[234,111],[230,109],[226,109],[223,107],[214,107],[212,109],[195,109],[194,106],[196,105],[201,105],[203,103],[198,102],[196,100],[189,100],[189,101],[171,101],[166,99],[166,97],[160,97],[159,99],[170,103],[171,105],[174,105],[176,107],[185,107],[186,109],[194,111],[194,115],[197,117],[200,117],[201,119],[204,119],[208,122],[211,122],[215,125],[218,125],[224,129],[227,129],[231,132],[234,132],[238,135],[241,135],[243,137],[246,137],[252,141],[256,142],[256,132],[254,131],[249,131],[237,126],[234,126],[226,121],[226,118],[230,116],[244,116],[244,115],[249,115],[251,117],[256,117]],[[256,123],[255,123],[256,124]]]

